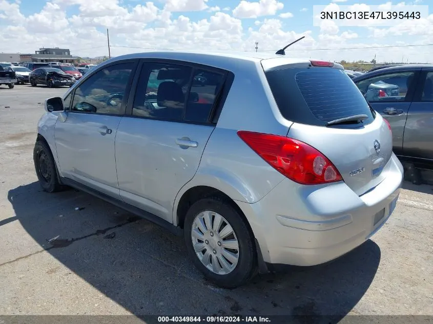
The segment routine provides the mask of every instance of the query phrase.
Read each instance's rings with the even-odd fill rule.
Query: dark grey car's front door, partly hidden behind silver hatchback
[[[355,80],[373,109],[389,121],[396,155],[403,154],[404,127],[418,77],[417,70],[393,70]]]

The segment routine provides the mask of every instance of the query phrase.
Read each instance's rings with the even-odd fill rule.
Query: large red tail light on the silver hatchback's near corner
[[[238,131],[238,136],[263,160],[301,184],[342,181],[337,168],[314,147],[284,136]]]

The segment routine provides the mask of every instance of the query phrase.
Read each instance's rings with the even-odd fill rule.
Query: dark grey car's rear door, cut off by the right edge
[[[433,70],[423,69],[404,128],[403,155],[433,162]]]

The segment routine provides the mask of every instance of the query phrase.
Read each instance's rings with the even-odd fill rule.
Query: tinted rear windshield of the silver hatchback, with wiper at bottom
[[[277,68],[265,75],[287,120],[316,126],[354,115],[367,115],[363,124],[374,120],[364,96],[343,70]]]

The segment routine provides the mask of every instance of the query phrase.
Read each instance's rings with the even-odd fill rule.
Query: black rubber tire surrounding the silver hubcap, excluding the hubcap
[[[215,231],[217,234],[213,234],[212,229],[211,231],[205,232],[204,235],[201,235],[203,234],[202,230],[199,230],[197,232],[198,228],[195,225],[195,221],[196,218],[201,217],[201,213],[203,211],[211,211],[211,214],[213,215],[211,223],[213,223],[213,225],[215,225],[217,217],[222,216],[222,218],[225,219],[225,221],[227,221],[228,224],[230,224],[230,226],[232,227],[233,235],[229,235],[227,237],[231,237],[231,242],[237,240],[237,253],[235,252],[236,249],[230,250],[233,252],[233,254],[237,254],[238,256],[236,264],[234,262],[230,262],[228,258],[221,256],[221,253],[224,253],[222,252],[223,250],[225,250],[225,253],[228,250],[226,250],[223,246],[221,247],[220,241],[228,242],[229,240],[224,241],[223,239],[225,239],[225,237],[222,237],[222,239],[216,238],[216,236],[218,235],[218,230]],[[224,221],[222,222],[221,226],[219,227],[219,233],[222,233],[225,229],[226,225],[224,225]],[[196,245],[199,245],[200,247],[204,246],[204,251],[196,252],[194,249],[193,240],[196,240],[196,237],[193,238],[191,235],[193,228],[194,231],[196,233],[199,233],[199,235],[201,235],[200,237],[203,238],[203,240],[198,239],[199,241],[196,241]],[[185,217],[183,233],[185,244],[187,245],[188,254],[192,258],[194,265],[204,274],[206,278],[208,278],[216,285],[223,288],[235,288],[245,284],[256,274],[257,256],[254,246],[254,237],[250,233],[248,225],[245,223],[239,212],[232,206],[229,201],[220,197],[211,197],[204,198],[195,202],[190,207]],[[210,234],[213,234],[212,237],[209,236]],[[208,238],[209,240],[206,240],[206,238]],[[218,243],[216,244],[215,241],[218,241]],[[210,252],[209,254],[211,255],[208,260],[212,260],[212,264],[208,263],[208,266],[205,266],[204,263],[200,260],[199,254],[204,256],[203,259],[205,259],[205,255],[208,253],[208,248]],[[214,268],[213,263],[216,258],[218,258],[218,261],[215,263],[217,266]],[[219,260],[221,260],[222,262],[220,262]],[[224,267],[222,266],[223,263],[234,268],[232,268],[229,272],[225,271],[223,269]],[[220,273],[216,273],[214,270],[210,270],[210,268],[208,267],[214,270],[217,269]]]

